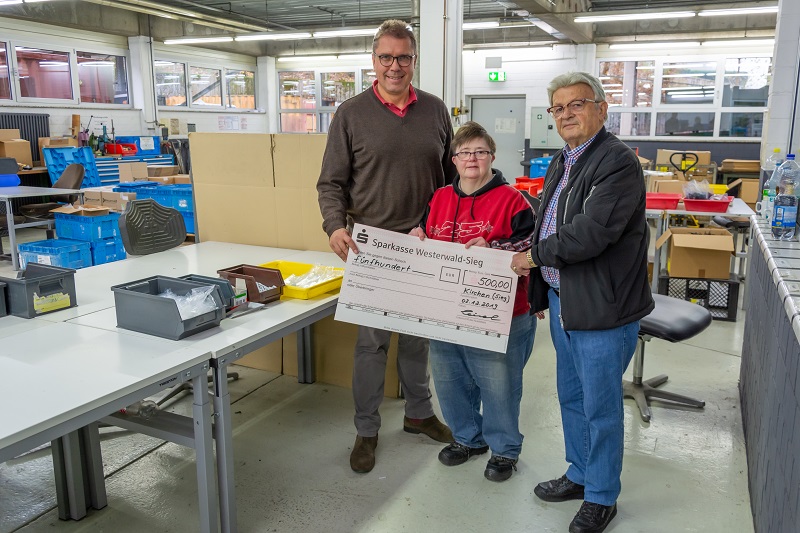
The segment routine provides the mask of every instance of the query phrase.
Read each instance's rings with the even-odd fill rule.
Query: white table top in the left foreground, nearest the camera
[[[0,352],[0,450],[210,359],[200,345],[54,323],[5,337]]]

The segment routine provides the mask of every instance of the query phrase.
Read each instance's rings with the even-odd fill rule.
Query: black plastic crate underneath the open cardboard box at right
[[[702,305],[716,320],[736,321],[739,281],[736,279],[658,278],[658,294]]]

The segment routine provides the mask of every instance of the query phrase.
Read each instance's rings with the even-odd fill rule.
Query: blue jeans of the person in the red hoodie
[[[506,353],[431,341],[436,395],[456,442],[470,448],[488,445],[492,455],[519,457],[522,370],[535,333],[536,317],[525,313],[511,321]]]

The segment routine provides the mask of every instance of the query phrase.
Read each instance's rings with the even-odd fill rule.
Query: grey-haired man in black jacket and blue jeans
[[[583,499],[569,530],[597,533],[617,513],[622,374],[639,319],[653,309],[645,187],[636,155],[603,126],[608,104],[597,78],[570,72],[547,92],[567,144],[547,169],[532,247],[511,268],[531,274],[531,309],[550,309],[569,467],[534,493],[549,502]]]

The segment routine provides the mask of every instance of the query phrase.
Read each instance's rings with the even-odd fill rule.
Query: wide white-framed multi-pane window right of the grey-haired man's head
[[[621,137],[759,138],[769,57],[601,60],[606,128]]]

